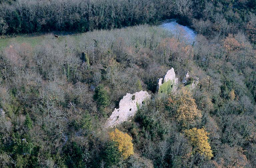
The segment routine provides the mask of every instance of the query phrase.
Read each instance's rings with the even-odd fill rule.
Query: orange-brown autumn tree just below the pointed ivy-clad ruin
[[[183,88],[174,103],[177,105],[176,119],[183,127],[195,126],[201,120],[201,111],[197,109],[195,99],[188,89]]]

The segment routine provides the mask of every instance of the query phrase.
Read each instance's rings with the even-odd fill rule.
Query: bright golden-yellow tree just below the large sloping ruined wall
[[[134,154],[132,137],[118,129],[109,133],[110,139],[117,142],[118,150],[122,153],[124,159]]]

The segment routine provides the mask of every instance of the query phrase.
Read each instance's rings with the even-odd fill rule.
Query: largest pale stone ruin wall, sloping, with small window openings
[[[112,115],[107,119],[106,127],[113,127],[128,121],[137,112],[137,106],[141,107],[150,95],[147,91],[139,91],[134,94],[127,93],[119,102],[119,108],[112,112]]]

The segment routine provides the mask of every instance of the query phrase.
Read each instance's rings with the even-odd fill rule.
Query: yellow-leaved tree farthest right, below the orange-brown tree
[[[208,159],[211,159],[213,154],[208,142],[208,134],[209,133],[206,132],[204,128],[185,130],[185,135],[189,138],[190,143],[193,146],[193,153],[198,152],[201,155],[204,154]]]

